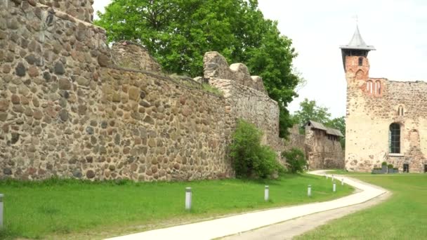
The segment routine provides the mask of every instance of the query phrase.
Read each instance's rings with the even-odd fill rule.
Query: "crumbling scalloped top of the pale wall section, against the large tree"
[[[249,69],[242,63],[228,66],[227,60],[218,52],[207,52],[203,59],[204,79],[230,79],[238,84],[267,93],[263,79],[260,76],[251,76]]]

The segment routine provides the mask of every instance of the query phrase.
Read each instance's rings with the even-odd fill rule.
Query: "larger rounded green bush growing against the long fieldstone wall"
[[[263,133],[256,126],[239,119],[232,134],[230,157],[237,178],[269,178],[283,170],[277,154],[261,145]]]

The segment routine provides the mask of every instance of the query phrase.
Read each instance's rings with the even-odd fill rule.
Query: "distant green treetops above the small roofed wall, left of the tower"
[[[344,138],[341,138],[341,147],[346,147],[346,118],[340,116],[331,119],[331,114],[327,107],[320,107],[316,104],[315,100],[308,100],[307,98],[300,103],[300,109],[293,115],[293,119],[300,126],[300,130],[303,131],[304,124],[307,124],[309,120],[317,121],[329,128],[335,128],[343,133]]]

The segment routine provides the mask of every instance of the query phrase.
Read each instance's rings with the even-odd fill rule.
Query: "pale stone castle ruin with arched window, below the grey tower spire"
[[[352,65],[357,57],[347,58]],[[409,164],[410,172],[423,172],[427,164],[427,83],[373,79],[367,71],[369,65],[347,73],[346,168],[372,171],[387,161],[400,171],[403,164]],[[373,83],[372,93],[368,81]],[[381,84],[377,92],[375,83]],[[399,107],[403,116],[398,114]],[[400,154],[390,154],[388,149],[388,131],[393,123],[401,126]]]

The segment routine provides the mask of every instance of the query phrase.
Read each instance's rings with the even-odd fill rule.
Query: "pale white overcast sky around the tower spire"
[[[95,0],[103,11],[110,0]],[[327,107],[333,117],[346,114],[346,78],[340,45],[359,25],[376,51],[368,55],[372,77],[393,81],[427,80],[427,1],[425,0],[258,0],[265,18],[277,20],[280,32],[298,52],[294,67],[307,83],[289,105],[298,110],[305,98]],[[357,18],[356,18],[357,16]]]

